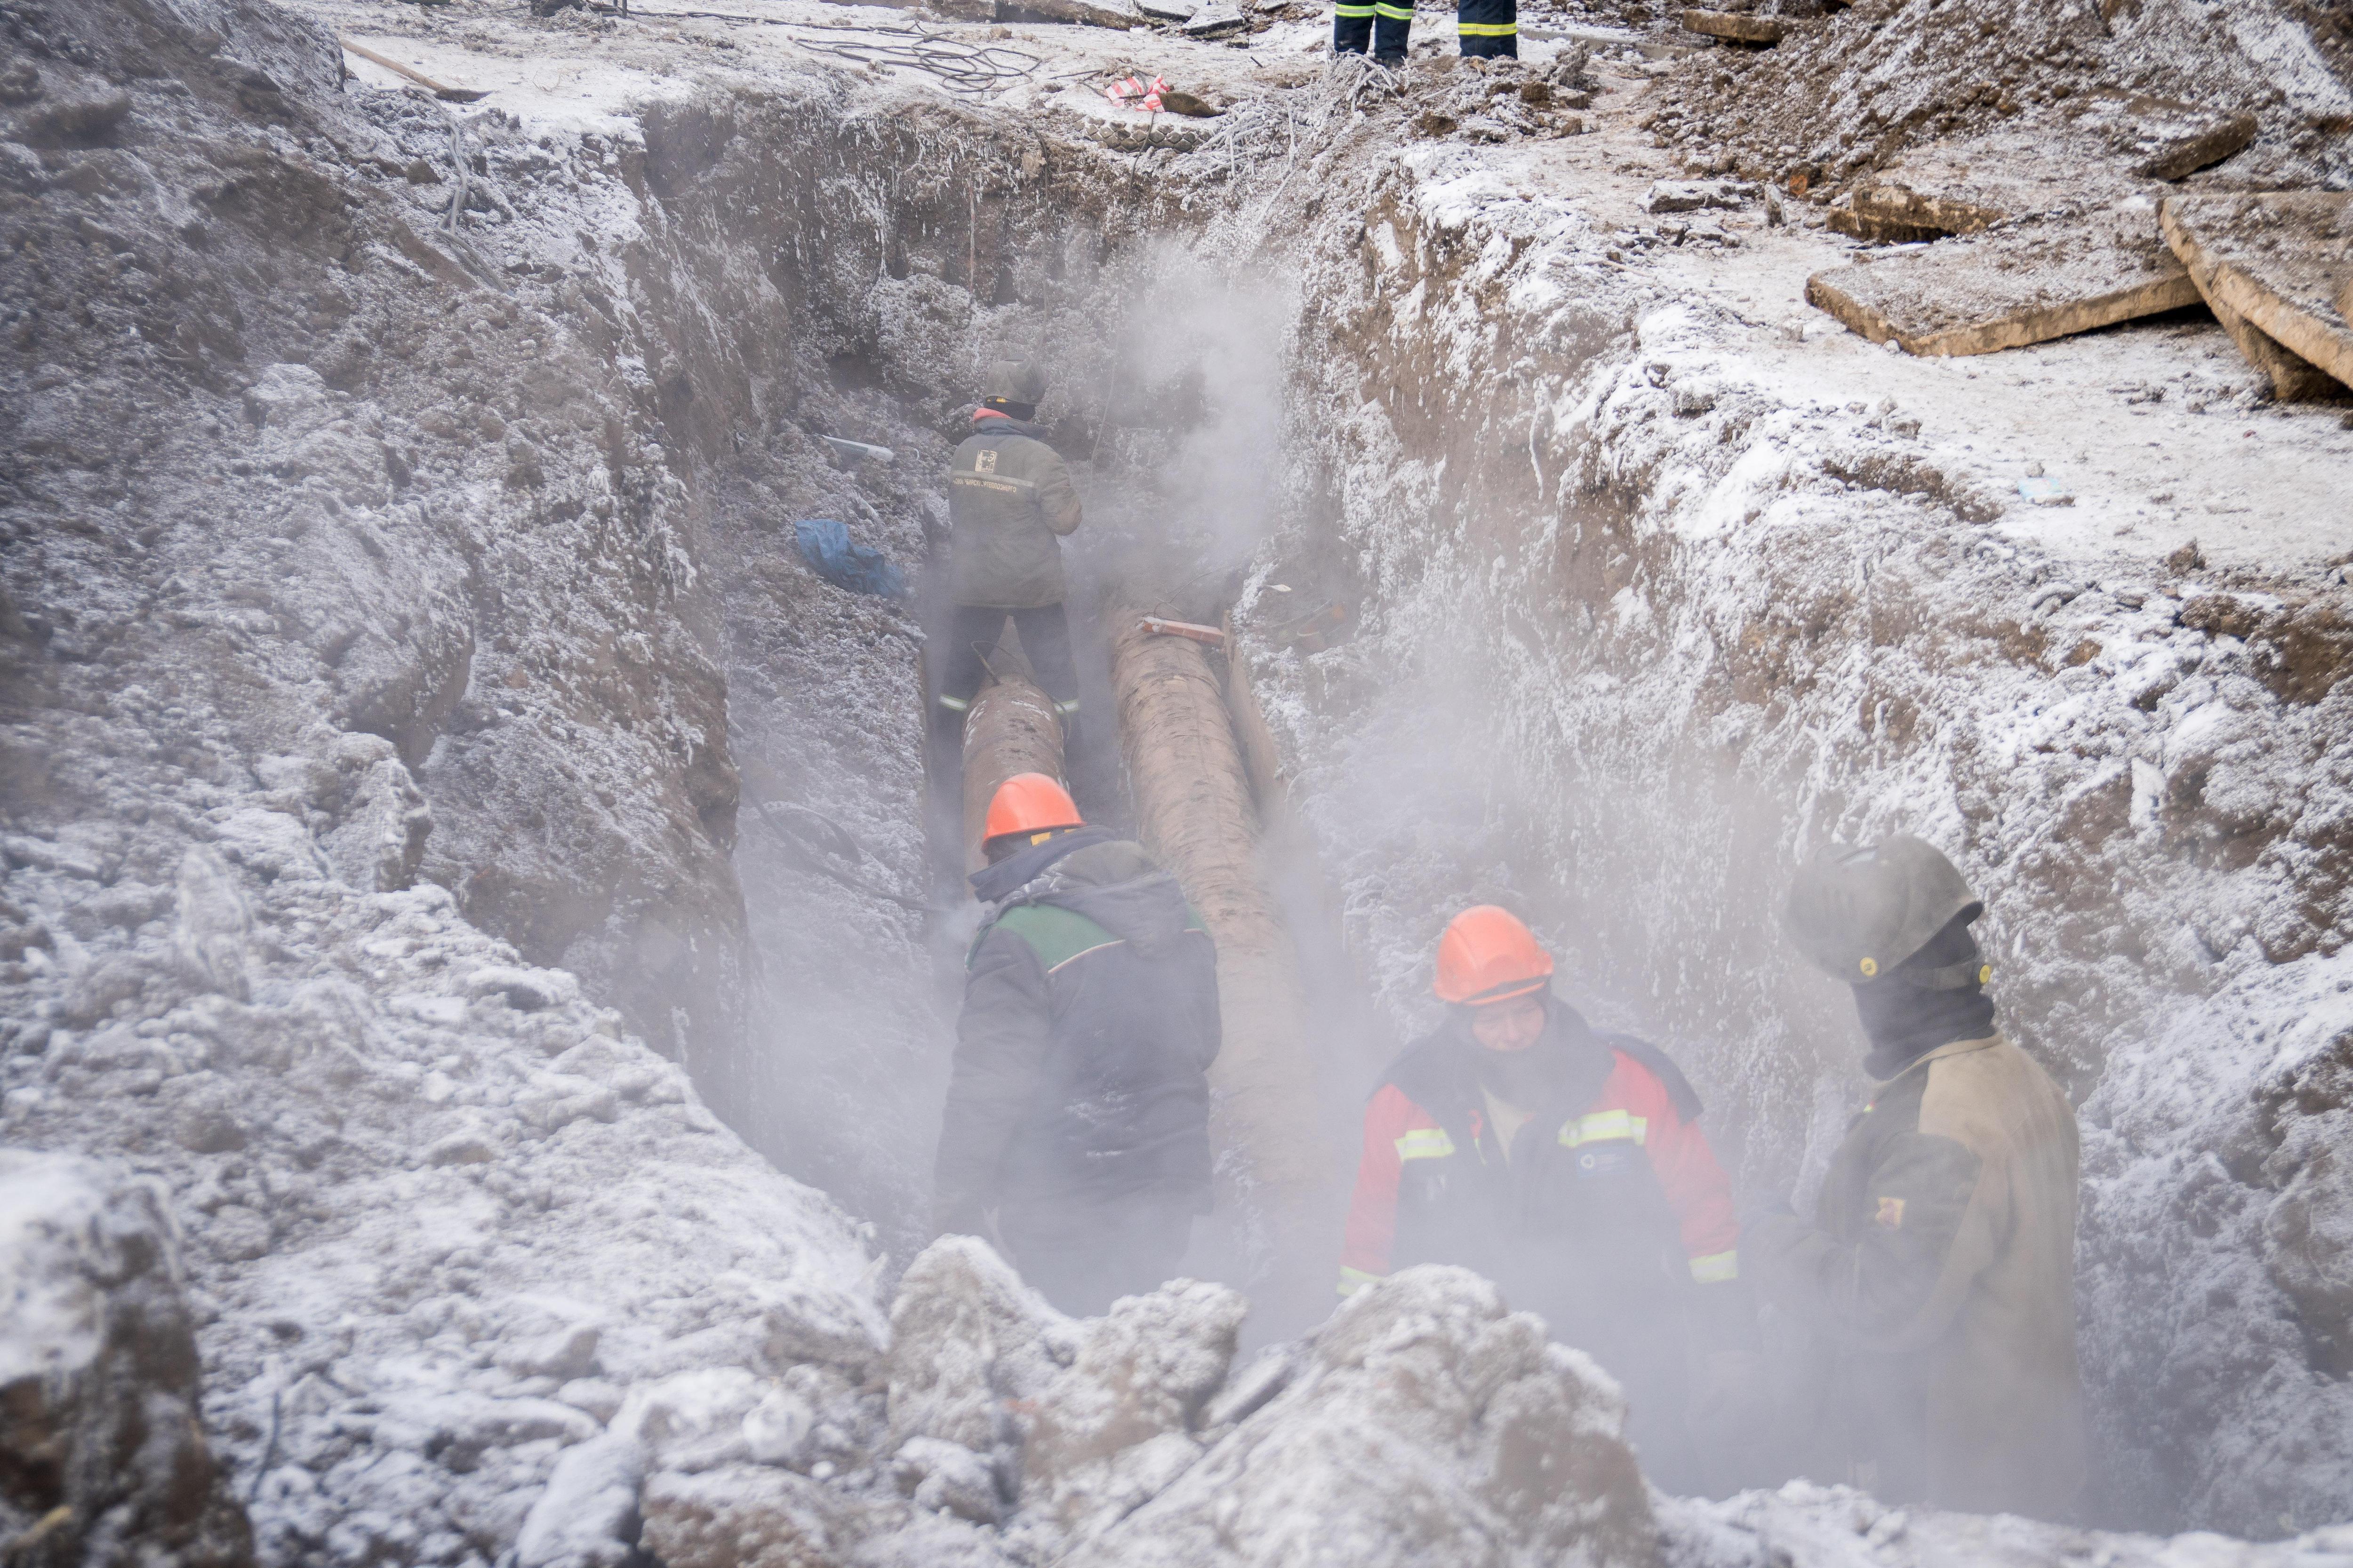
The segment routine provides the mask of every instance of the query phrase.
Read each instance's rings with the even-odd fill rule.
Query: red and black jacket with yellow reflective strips
[[[1457,1262],[1621,1375],[1680,1359],[1694,1326],[1729,1342],[1746,1321],[1739,1225],[1699,1095],[1652,1046],[1546,1006],[1529,1051],[1553,1051],[1560,1070],[1537,1105],[1492,1095],[1492,1063],[1464,1023],[1388,1070],[1365,1110],[1341,1295],[1414,1262]],[[1508,1147],[1499,1112],[1527,1112]]]

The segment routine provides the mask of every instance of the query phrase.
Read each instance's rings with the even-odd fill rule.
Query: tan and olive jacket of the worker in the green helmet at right
[[[1847,1128],[1819,1222],[1746,1237],[1769,1300],[1833,1345],[1859,1481],[1897,1502],[2059,1519],[2085,1474],[2075,1112],[1991,1034],[1937,1046]]]

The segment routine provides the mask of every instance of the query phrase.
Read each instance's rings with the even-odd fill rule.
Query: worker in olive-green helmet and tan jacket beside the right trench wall
[[[1934,846],[1833,846],[1791,889],[1791,938],[1854,987],[1878,1088],[1812,1222],[1746,1251],[1828,1352],[1831,1460],[1889,1502],[2061,1519],[2085,1476],[2075,1371],[2075,1112],[2002,1039],[1986,905]],[[1821,1476],[1833,1479],[1833,1476]]]

